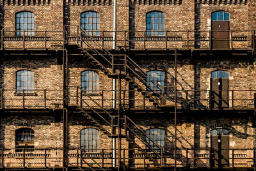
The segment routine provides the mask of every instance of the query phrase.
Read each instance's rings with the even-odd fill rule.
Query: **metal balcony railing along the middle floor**
[[[174,107],[174,90],[172,87],[164,87],[161,95],[162,107]],[[212,93],[221,91],[211,90],[184,90],[177,91],[177,108],[219,110],[219,109],[249,109],[256,108],[256,90],[229,90],[222,91],[227,97],[212,98]],[[116,94],[115,99],[113,93]],[[120,99],[120,100],[119,100]],[[93,102],[93,101],[94,102]],[[160,100],[159,100],[160,101]],[[86,102],[87,105],[84,105]],[[95,103],[96,102],[96,103]],[[115,103],[115,105],[114,105]],[[86,93],[78,87],[70,87],[68,91],[68,105],[83,108],[106,108],[118,107],[119,103],[124,108],[156,108],[156,105],[147,98],[147,94],[141,94],[135,89],[131,90],[100,90],[96,93]],[[159,102],[160,103],[160,102]],[[225,107],[221,103],[225,103]],[[97,105],[95,105],[97,104]],[[62,108],[63,90],[58,89],[35,89],[17,90],[0,89],[0,108]]]

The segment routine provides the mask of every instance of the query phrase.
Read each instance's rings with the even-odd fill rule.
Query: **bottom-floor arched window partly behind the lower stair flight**
[[[164,147],[164,130],[161,130],[159,128],[152,128],[146,131],[146,134],[148,137],[150,137],[154,142],[156,142],[159,146]],[[149,138],[146,137],[146,142],[156,151],[160,151],[159,147],[157,147],[156,144],[154,144]],[[147,151],[150,151],[149,147],[147,147]]]

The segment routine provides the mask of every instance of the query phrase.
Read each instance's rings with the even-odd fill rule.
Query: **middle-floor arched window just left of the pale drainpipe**
[[[81,73],[81,89],[86,93],[99,91],[99,74],[97,71],[88,70]]]

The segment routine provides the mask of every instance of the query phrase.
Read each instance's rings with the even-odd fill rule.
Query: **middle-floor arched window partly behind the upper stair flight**
[[[161,86],[164,86],[164,72],[159,70],[147,71],[147,91],[152,90],[161,93]],[[161,85],[161,86],[159,86]]]

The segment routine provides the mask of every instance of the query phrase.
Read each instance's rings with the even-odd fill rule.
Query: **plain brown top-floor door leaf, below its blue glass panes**
[[[212,48],[229,48],[229,21],[212,21]]]

